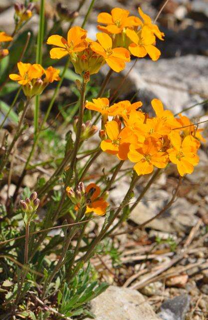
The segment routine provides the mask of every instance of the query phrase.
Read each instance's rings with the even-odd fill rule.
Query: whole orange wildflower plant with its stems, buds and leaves
[[[41,0],[36,59],[32,54],[24,58],[22,55],[16,60],[15,68],[7,74],[10,82],[7,83],[7,79],[1,84],[2,89],[9,83],[15,83],[18,91],[0,129],[14,111],[18,112],[13,107],[20,91],[23,96],[19,102],[15,133],[11,141],[5,135],[1,146],[1,187],[7,179],[10,181],[15,151],[22,148],[22,136],[28,136],[26,113],[30,106],[35,105],[34,123],[29,123],[33,141],[23,160],[23,168],[18,172],[14,193],[10,196],[7,192],[7,199],[1,207],[0,224],[6,231],[0,235],[3,250],[0,263],[2,268],[7,265],[8,272],[2,274],[1,271],[0,280],[7,277],[12,283],[1,292],[4,296],[0,312],[7,314],[7,318],[15,315],[50,318],[50,312],[59,318],[92,316],[87,303],[106,289],[107,284],[100,283],[99,274],[90,264],[90,259],[96,252],[100,254],[102,240],[106,240],[128,218],[131,211],[129,203],[140,176],[152,174],[153,183],[158,172],[167,166],[175,165],[178,175],[184,176],[192,173],[199,163],[198,149],[204,137],[202,129],[191,119],[181,113],[175,116],[157,98],[151,102],[150,114],[144,111],[142,101],[113,101],[106,93],[112,72],[124,70],[131,58],[149,55],[153,61],[158,60],[161,52],[157,48],[157,38],[164,40],[164,33],[141,8],[138,8],[139,16],[113,8],[110,13],[98,14],[96,38],[89,39],[84,26],[91,8],[80,27],[73,25],[77,13],[68,12],[59,5],[59,23],[66,19],[71,24],[64,35],[58,33],[56,24],[51,30],[44,30],[44,0]],[[0,32],[1,58],[9,54],[6,43],[18,35],[21,26],[31,17],[32,9],[33,4],[28,1],[15,4],[13,35]],[[50,34],[44,43],[44,54],[41,51],[41,34]],[[27,45],[28,41],[23,54]],[[42,57],[47,54],[47,49],[49,56],[44,63]],[[65,63],[62,72],[59,66],[48,66],[60,63]],[[109,68],[109,72],[101,87],[97,88],[99,93],[90,91],[93,75],[103,65]],[[66,119],[70,123],[64,121],[64,139],[58,135],[58,125],[57,132],[54,130],[52,140],[55,134],[56,139],[60,139],[56,142],[59,144],[57,148],[52,146],[53,156],[50,159],[51,146],[49,152],[47,141],[51,122],[48,120],[51,116],[52,125],[56,122],[51,109],[69,66],[73,74],[73,90],[79,101],[74,106],[74,101],[66,105]],[[47,86],[51,86],[53,96],[41,117],[39,95]],[[61,114],[64,114],[64,107],[60,108]],[[88,139],[95,135],[97,145],[91,149]],[[63,150],[61,157],[56,153],[57,149]],[[38,163],[39,153],[44,155],[40,156],[42,164]],[[89,172],[96,159],[104,153],[110,154],[114,166],[107,173],[103,171],[97,179],[96,174],[90,175]],[[131,182],[120,205],[114,208],[108,199],[109,192],[127,161],[131,167]],[[45,165],[50,174],[44,174],[47,171]],[[32,191],[24,186],[35,168],[40,174]],[[92,238],[87,226],[97,218],[102,218],[103,224]],[[48,233],[53,229],[61,229],[62,232]],[[115,255],[113,244],[109,247],[113,250],[110,251],[112,256]],[[55,259],[51,260],[54,254]]]

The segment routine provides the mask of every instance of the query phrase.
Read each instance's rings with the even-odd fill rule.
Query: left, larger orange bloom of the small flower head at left
[[[11,73],[9,78],[14,81],[18,81],[19,84],[25,85],[32,79],[39,78],[44,73],[44,69],[40,64],[23,63],[18,62],[17,67],[19,74]]]

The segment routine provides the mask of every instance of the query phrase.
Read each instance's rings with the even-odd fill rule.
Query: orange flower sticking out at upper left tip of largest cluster
[[[116,115],[118,107],[113,104],[109,105],[109,99],[108,98],[97,98],[92,99],[93,102],[87,102],[85,104],[85,107],[90,110],[98,111],[103,115]]]

